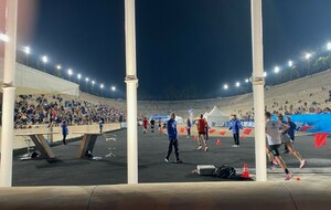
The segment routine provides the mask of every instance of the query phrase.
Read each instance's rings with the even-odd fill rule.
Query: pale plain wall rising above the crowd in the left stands
[[[66,94],[78,96],[79,85],[17,63],[15,94]],[[3,59],[0,57],[0,84],[3,85]],[[2,90],[1,90],[2,91]]]

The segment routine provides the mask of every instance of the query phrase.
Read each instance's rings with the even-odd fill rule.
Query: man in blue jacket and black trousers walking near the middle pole
[[[179,149],[178,149],[178,133],[177,133],[177,123],[175,123],[175,114],[171,113],[171,118],[167,123],[167,130],[168,130],[168,138],[169,138],[169,146],[168,151],[164,157],[166,162],[170,162],[169,157],[172,153],[172,146],[174,147],[174,155],[175,155],[175,162],[181,164],[182,160],[179,158]]]

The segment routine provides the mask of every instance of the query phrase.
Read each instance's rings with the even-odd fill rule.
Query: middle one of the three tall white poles
[[[125,0],[128,183],[138,183],[135,0]]]

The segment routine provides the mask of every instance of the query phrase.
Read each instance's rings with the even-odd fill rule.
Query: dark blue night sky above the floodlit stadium
[[[33,33],[18,43],[32,48],[31,60],[47,54],[50,69],[60,63],[105,83],[107,92],[116,85],[124,97],[124,0],[35,2]],[[263,3],[267,72],[331,41],[330,0]],[[252,74],[249,0],[136,0],[136,28],[142,99],[222,96],[223,84],[234,92],[234,83]]]

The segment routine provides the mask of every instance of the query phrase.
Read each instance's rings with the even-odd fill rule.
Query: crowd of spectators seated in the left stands
[[[58,126],[63,120],[67,125],[92,125],[125,122],[125,112],[106,105],[86,101],[63,99],[61,95],[20,95],[14,106],[14,127],[29,128],[32,125],[53,124]]]

